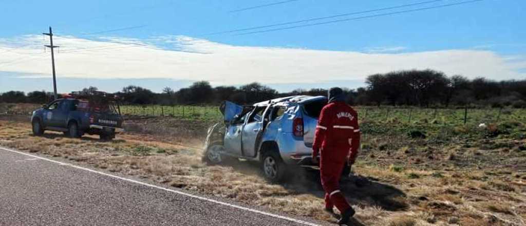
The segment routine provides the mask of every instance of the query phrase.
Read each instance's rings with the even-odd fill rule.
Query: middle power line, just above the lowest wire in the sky
[[[430,3],[443,2],[443,1],[446,1],[446,0],[432,0],[432,1],[418,2],[418,3],[412,3],[412,4],[406,4],[406,5],[398,5],[398,6],[391,6],[391,7],[385,7],[385,8],[370,9],[370,10],[367,10],[367,11],[344,13],[344,14],[338,14],[338,15],[333,15],[333,16],[314,17],[314,18],[309,18],[309,19],[296,20],[296,21],[292,21],[292,22],[285,22],[285,23],[278,23],[278,24],[271,24],[271,25],[264,25],[264,26],[257,26],[257,27],[248,27],[248,28],[241,28],[241,29],[235,29],[235,30],[226,30],[224,32],[210,33],[210,34],[207,34],[207,35],[219,35],[219,34],[243,32],[245,30],[254,30],[254,29],[267,28],[267,27],[276,27],[276,26],[282,26],[282,25],[311,22],[311,21],[315,21],[315,20],[330,19],[330,18],[336,18],[336,17],[342,17],[342,16],[350,16],[350,15],[363,14],[363,13],[372,13],[372,12],[378,12],[378,11],[385,11],[385,10],[388,10],[388,9],[403,8],[403,7],[423,5],[423,4],[430,4]]]

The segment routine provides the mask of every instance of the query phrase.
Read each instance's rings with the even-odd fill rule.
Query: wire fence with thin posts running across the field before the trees
[[[31,115],[41,107],[35,104],[0,103],[0,115]],[[526,122],[526,109],[520,108],[418,108],[392,106],[357,106],[360,121],[400,124],[423,122],[442,125],[491,124],[501,121]],[[181,120],[220,121],[218,106],[191,105],[122,105],[125,116],[172,117]]]

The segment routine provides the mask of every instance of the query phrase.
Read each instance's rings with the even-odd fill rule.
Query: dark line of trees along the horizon
[[[436,70],[400,70],[370,75],[366,87],[347,89],[342,87],[346,101],[352,105],[392,105],[420,107],[450,106],[510,106],[526,107],[526,79],[494,81],[486,78],[468,79],[460,75],[448,77]],[[84,91],[97,90],[96,87]],[[279,93],[268,86],[251,83],[240,87],[212,87],[208,81],[197,81],[177,91],[165,87],[161,93],[140,86],[126,86],[115,93],[124,104],[147,105],[214,105],[224,100],[239,104],[252,104],[272,98],[311,95],[326,96],[326,89],[296,89]],[[0,102],[29,102],[42,104],[53,100],[46,91],[8,91],[0,95]]]

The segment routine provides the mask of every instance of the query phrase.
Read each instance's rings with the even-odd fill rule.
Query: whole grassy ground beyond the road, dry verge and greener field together
[[[524,120],[485,121],[487,127],[481,128],[423,117],[432,116],[432,111],[417,113],[420,116],[410,122],[396,117],[405,112],[392,111],[393,117],[383,113],[368,112],[366,117],[364,112],[361,122],[362,150],[353,171],[370,183],[359,186],[356,178],[342,181],[341,190],[357,209],[360,222],[378,226],[525,225]],[[521,119],[522,115],[514,114],[509,117]],[[0,145],[335,222],[321,211],[323,191],[316,173],[302,172],[294,180],[270,184],[256,165],[246,161],[224,166],[201,162],[200,147],[210,124],[138,117],[126,122],[124,135],[100,142],[96,137],[70,139],[53,132],[34,137],[27,117],[4,116],[0,117]]]

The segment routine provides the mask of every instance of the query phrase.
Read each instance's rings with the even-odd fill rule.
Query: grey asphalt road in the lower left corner
[[[0,148],[0,225],[320,224],[177,192]]]

